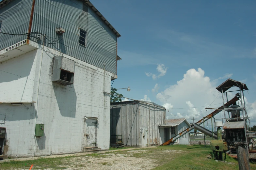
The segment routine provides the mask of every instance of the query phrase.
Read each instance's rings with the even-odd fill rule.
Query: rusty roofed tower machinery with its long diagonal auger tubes
[[[230,91],[229,89],[231,87],[238,87],[239,91],[235,95],[233,99],[228,101],[226,104],[224,104],[224,100],[228,100],[228,92],[234,92]],[[250,126],[250,120],[245,108],[245,99],[244,99],[244,91],[248,90],[246,84],[228,79],[225,82],[223,82],[221,85],[216,87],[216,89],[222,93],[222,101],[223,106],[218,108],[206,108],[206,109],[215,109],[211,114],[209,114],[206,117],[203,117],[201,120],[199,120],[197,123],[192,124],[189,128],[182,131],[178,135],[174,136],[173,138],[169,139],[162,145],[169,145],[170,143],[177,140],[179,137],[183,136],[187,132],[193,130],[194,128],[200,128],[202,132],[205,134],[209,133],[210,136],[213,136],[213,138],[216,138],[215,134],[213,132],[207,132],[205,128],[202,128],[199,126],[203,123],[203,121],[207,121],[210,118],[213,118],[216,114],[223,111],[224,112],[224,118],[221,118],[221,120],[224,120],[223,130],[224,130],[224,138],[220,138],[221,135],[217,134],[217,140],[214,140],[211,142],[211,148],[213,150],[214,158],[224,160],[224,154],[225,152],[230,149],[231,154],[237,155],[238,162],[239,162],[239,169],[250,169],[249,165],[249,156],[252,159],[256,159],[256,142],[253,140],[253,135],[256,135],[255,132],[248,131],[248,127]],[[225,97],[226,93],[226,97]],[[242,95],[242,96],[241,96]],[[225,99],[226,98],[226,99]],[[242,99],[243,98],[243,99]],[[237,105],[237,103],[241,104],[241,106]],[[226,113],[228,113],[226,115]],[[220,133],[220,125],[216,122],[217,132]],[[212,130],[213,131],[213,130]],[[248,152],[249,149],[249,152]],[[250,153],[250,154],[249,154]],[[252,155],[255,153],[255,155]]]

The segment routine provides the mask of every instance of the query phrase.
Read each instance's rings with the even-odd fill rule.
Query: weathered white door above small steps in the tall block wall
[[[96,126],[97,121],[95,119],[86,119],[85,147],[95,147]]]

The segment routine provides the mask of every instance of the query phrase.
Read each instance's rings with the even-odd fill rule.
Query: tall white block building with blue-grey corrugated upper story
[[[113,26],[89,1],[3,0],[0,30],[3,156],[109,149]]]

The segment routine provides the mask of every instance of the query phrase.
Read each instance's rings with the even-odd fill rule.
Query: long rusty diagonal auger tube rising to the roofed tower
[[[234,104],[236,101],[238,101],[240,98],[240,94],[237,93],[235,95],[235,97],[233,99],[231,99],[230,101],[228,101],[226,104],[224,104],[224,107],[229,107],[232,104]],[[203,123],[203,121],[207,121],[209,120],[211,117],[214,117],[215,115],[217,115],[219,112],[221,112],[223,108],[223,105],[221,107],[219,107],[218,109],[216,109],[215,111],[213,111],[212,113],[210,113],[209,115],[207,115],[206,117],[202,118],[201,120],[199,120],[196,124],[200,125]],[[165,146],[165,145],[169,145],[171,143],[173,143],[174,141],[176,141],[178,138],[180,138],[181,136],[183,136],[184,134],[188,133],[189,131],[192,131],[194,128],[187,128],[184,131],[180,132],[179,134],[177,134],[176,136],[174,136],[173,138],[169,139],[168,141],[166,141],[165,143],[163,143],[161,146]]]

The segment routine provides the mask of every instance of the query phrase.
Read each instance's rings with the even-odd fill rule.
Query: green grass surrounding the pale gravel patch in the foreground
[[[171,152],[173,150],[179,150],[177,152]],[[226,162],[216,162],[213,159],[209,159],[209,155],[211,154],[211,149],[209,146],[185,146],[185,145],[171,145],[171,146],[160,146],[153,148],[142,148],[136,149],[134,152],[131,151],[122,151],[118,150],[116,152],[108,152],[105,154],[90,154],[83,156],[69,156],[69,157],[57,157],[57,158],[39,158],[36,160],[29,161],[10,161],[10,162],[1,162],[0,169],[8,170],[8,169],[29,169],[31,164],[34,164],[32,169],[47,169],[51,168],[54,170],[58,169],[69,169],[67,162],[72,162],[74,158],[78,158],[76,160],[81,161],[82,157],[92,157],[95,159],[101,159],[102,157],[110,157],[109,154],[122,154],[126,157],[136,157],[136,158],[145,158],[150,159],[154,164],[157,165],[154,170],[238,170],[238,162],[237,160],[227,156]],[[108,156],[106,155],[108,154]],[[79,158],[80,157],[80,158]],[[136,159],[135,158],[135,159]],[[92,160],[93,161],[93,160]],[[121,161],[121,160],[120,160]],[[91,161],[83,161],[83,163],[90,163]],[[118,163],[118,161],[115,161]],[[115,163],[113,161],[113,163]],[[102,165],[111,166],[111,162],[102,162]],[[68,163],[69,164],[69,163]],[[91,165],[91,163],[90,163]],[[251,169],[256,170],[256,164],[250,164]],[[83,167],[83,165],[78,164],[76,167]],[[74,167],[72,168],[74,169]]]

